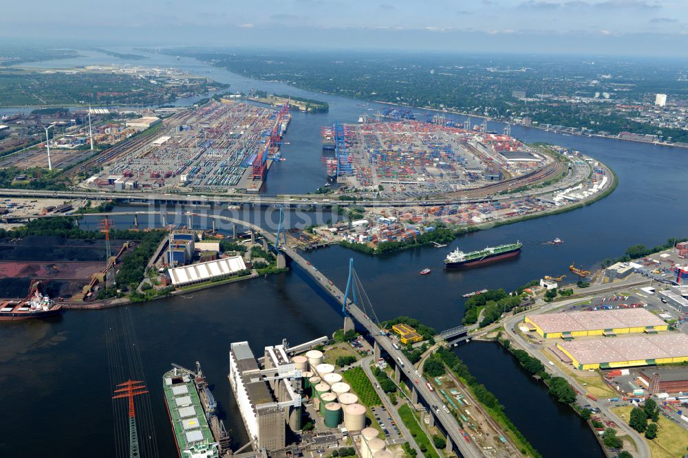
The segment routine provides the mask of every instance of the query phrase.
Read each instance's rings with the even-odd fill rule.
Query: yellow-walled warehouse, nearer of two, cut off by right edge
[[[573,367],[580,371],[680,364],[688,361],[688,336],[667,333],[660,336],[597,338],[557,342],[557,349],[571,358]]]

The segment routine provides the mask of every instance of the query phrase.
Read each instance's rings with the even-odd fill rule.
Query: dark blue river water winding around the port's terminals
[[[31,65],[69,67],[124,62],[103,54],[84,54],[83,58]],[[363,106],[367,102],[361,100],[250,80],[189,58],[176,61],[162,54],[150,56],[149,60],[131,64],[178,67],[194,74],[208,74],[230,83],[232,91],[255,88],[330,103],[329,113],[294,113],[285,138],[290,144],[283,146],[286,161],[275,164],[270,171],[266,189],[269,193],[303,193],[322,186],[325,168],[320,160],[320,127],[334,120],[356,122],[368,108]],[[378,109],[375,104],[370,107]],[[490,128],[500,129],[500,124],[491,123]],[[656,245],[670,237],[685,237],[688,232],[688,212],[682,205],[688,195],[685,179],[688,151],[685,149],[565,136],[525,127],[513,127],[512,133],[524,142],[550,142],[598,158],[619,176],[619,188],[592,206],[477,232],[439,250],[419,248],[369,257],[335,246],[310,252],[308,259],[343,287],[347,261],[353,257],[356,271],[381,320],[405,314],[442,330],[460,323],[464,312],[461,295],[465,292],[483,287],[513,290],[543,275],[570,274],[568,265],[572,261],[589,268],[605,258],[623,254],[634,243]],[[252,212],[246,217],[264,219],[263,215]],[[302,225],[311,217],[318,215],[288,212],[290,225]],[[131,226],[131,217],[118,217],[115,221],[121,228]],[[95,227],[92,220],[84,224]],[[544,244],[554,237],[560,237],[565,243]],[[472,250],[515,239],[524,241],[522,254],[516,259],[464,272],[445,272],[441,268],[446,252],[456,246]],[[424,267],[433,268],[433,273],[418,275]],[[133,327],[121,324],[129,319]],[[213,392],[227,417],[235,446],[243,445],[246,433],[226,379],[230,342],[248,340],[259,354],[264,345],[275,345],[282,338],[297,344],[331,334],[341,327],[341,322],[339,307],[314,290],[305,274],[294,268],[267,279],[219,286],[143,305],[107,311],[68,311],[45,322],[3,323],[0,383],[3,384],[3,417],[7,421],[0,436],[0,455],[47,453],[52,457],[72,457],[93,455],[98,450],[97,455],[103,457],[123,456],[122,450],[116,447],[122,442],[121,437],[116,440],[122,430],[114,425],[121,428],[126,420],[122,411],[114,412],[109,367],[120,367],[121,371],[127,364],[108,363],[107,350],[113,345],[105,336],[112,327],[122,336],[119,347],[124,346],[122,342],[129,342],[129,353],[141,358],[142,371],[134,369],[118,375],[119,379],[131,376],[144,380],[149,387],[151,410],[148,413],[143,409],[140,421],[145,423],[148,417],[152,418],[160,456],[175,453],[161,386],[162,373],[169,369],[171,362],[186,367],[193,367],[197,360],[202,363],[214,384]],[[135,342],[131,338],[132,330],[136,333]],[[457,351],[477,378],[499,397],[509,417],[544,456],[602,456],[592,432],[579,417],[550,399],[544,386],[533,382],[508,353],[496,345],[480,342],[472,342]],[[118,382],[124,381],[119,379]],[[154,440],[151,425],[140,430],[143,431],[140,437],[151,436],[141,437],[142,442]],[[45,448],[46,444],[49,448]]]

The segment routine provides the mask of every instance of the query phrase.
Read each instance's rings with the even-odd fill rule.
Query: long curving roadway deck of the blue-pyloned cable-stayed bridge
[[[122,215],[179,215],[179,212],[164,212],[164,211],[138,211],[138,212],[104,212],[104,213],[89,213],[87,216],[122,216]],[[235,218],[230,218],[230,217],[225,217],[221,215],[206,215],[208,218],[214,218],[222,221],[228,221],[230,223],[235,223],[239,226],[244,226],[245,228],[249,228],[252,230],[255,230],[255,232],[258,232],[259,234],[263,235],[270,243],[275,243],[275,240],[277,237],[272,234],[271,232],[268,232],[264,230],[264,228],[261,228],[260,226],[257,226],[253,223],[248,223],[246,221],[241,221],[240,219],[235,219]],[[48,215],[45,215],[45,217],[48,217]],[[343,292],[339,290],[338,287],[330,281],[330,279],[327,279],[327,277],[322,274],[319,270],[316,270],[313,265],[311,265],[308,261],[306,261],[301,254],[293,250],[292,248],[288,246],[280,246],[279,247],[281,252],[286,254],[290,259],[292,259],[293,262],[299,264],[305,272],[308,272],[308,274],[318,283],[323,287],[323,290],[327,291],[329,294],[331,294],[338,302],[342,301],[343,298]],[[440,406],[442,403],[442,400],[440,400],[438,397],[436,397],[436,394],[431,392],[427,385],[425,384],[425,379],[422,378],[422,376],[416,375],[416,370],[413,367],[413,364],[404,356],[404,353],[402,353],[400,350],[397,350],[392,346],[391,340],[383,335],[383,332],[380,330],[380,328],[372,322],[368,316],[363,313],[363,310],[359,309],[356,305],[353,303],[349,302],[347,303],[347,310],[350,313],[350,315],[358,321],[358,323],[361,323],[363,327],[369,332],[369,334],[376,340],[378,345],[385,349],[389,356],[391,358],[394,358],[395,364],[398,364],[399,361],[403,363],[402,367],[399,367],[399,369],[406,375],[409,380],[413,381],[414,388],[416,391],[418,391],[418,395],[422,397],[422,399],[425,401],[425,403],[429,406]],[[418,383],[415,383],[418,381]],[[473,457],[483,457],[484,455],[482,452],[475,446],[473,442],[466,443],[464,440],[463,436],[459,432],[459,424],[456,421],[456,419],[450,414],[444,412],[442,409],[439,411],[436,411],[435,413],[431,413],[431,415],[435,415],[436,418],[438,419],[438,422],[442,424],[442,427],[444,428],[445,431],[447,431],[447,434],[451,438],[451,443],[453,444],[454,447],[458,448],[460,454],[463,457],[466,458],[473,458]]]

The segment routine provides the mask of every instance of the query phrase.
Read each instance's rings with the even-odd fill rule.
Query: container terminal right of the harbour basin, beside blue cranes
[[[451,193],[533,173],[552,157],[509,135],[402,120],[322,130],[327,173],[355,188]]]

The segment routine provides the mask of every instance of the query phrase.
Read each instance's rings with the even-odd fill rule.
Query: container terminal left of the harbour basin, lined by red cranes
[[[291,116],[287,107],[275,110],[228,101],[210,102],[173,119],[152,141],[131,142],[109,154],[100,164],[102,171],[83,186],[258,192],[279,159],[279,144]],[[139,121],[129,124],[142,129],[156,124],[153,118]]]

